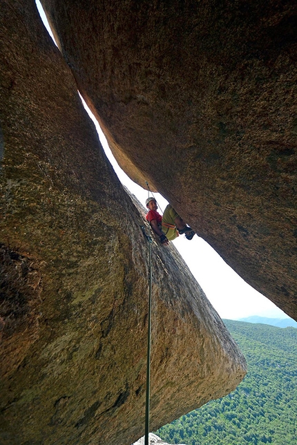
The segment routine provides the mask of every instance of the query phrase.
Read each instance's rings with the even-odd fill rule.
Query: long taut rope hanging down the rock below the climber
[[[152,284],[152,267],[151,267],[151,243],[152,238],[146,235],[144,226],[141,226],[142,232],[148,240],[148,337],[147,337],[147,354],[146,354],[146,413],[145,413],[145,432],[144,445],[148,445],[149,433],[149,413],[150,413],[150,386],[151,386],[151,284]]]

